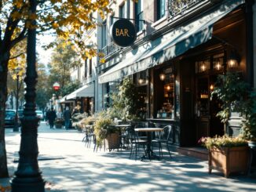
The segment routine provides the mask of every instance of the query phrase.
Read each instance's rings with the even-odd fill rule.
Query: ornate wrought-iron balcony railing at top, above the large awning
[[[169,0],[168,9],[170,16],[177,16],[183,13],[186,9],[196,5],[196,3],[203,2],[204,0]]]

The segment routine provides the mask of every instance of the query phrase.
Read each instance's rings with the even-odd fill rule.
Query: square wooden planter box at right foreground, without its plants
[[[231,172],[247,173],[249,162],[248,147],[213,147],[209,150],[209,174],[217,169],[228,177]]]

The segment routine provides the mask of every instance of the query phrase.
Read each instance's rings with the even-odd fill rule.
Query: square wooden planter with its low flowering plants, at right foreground
[[[215,136],[203,138],[202,143],[209,150],[209,174],[217,169],[228,177],[232,172],[247,173],[248,143],[242,137]]]

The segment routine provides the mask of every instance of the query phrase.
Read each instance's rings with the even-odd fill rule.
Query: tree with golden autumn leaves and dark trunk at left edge
[[[82,42],[86,31],[96,27],[97,18],[93,13],[101,16],[109,12],[108,0],[44,0],[38,1],[38,12],[30,13],[29,1],[5,0],[0,1],[0,178],[8,177],[5,150],[5,101],[7,96],[7,74],[11,50],[17,43],[27,37],[27,29],[37,28],[38,33],[49,31],[60,35],[66,42],[75,42],[75,49],[82,57],[95,54],[91,45]],[[37,20],[34,26],[30,20]],[[71,38],[69,38],[71,37]]]

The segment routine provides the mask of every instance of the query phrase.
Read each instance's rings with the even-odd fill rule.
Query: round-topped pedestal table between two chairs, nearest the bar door
[[[134,130],[135,130],[135,132],[146,132],[147,133],[147,138],[148,138],[147,149],[145,151],[145,154],[141,157],[141,161],[144,158],[148,158],[149,160],[151,160],[152,158],[159,159],[159,156],[155,155],[153,150],[151,149],[152,132],[162,132],[163,128],[136,128]]]

